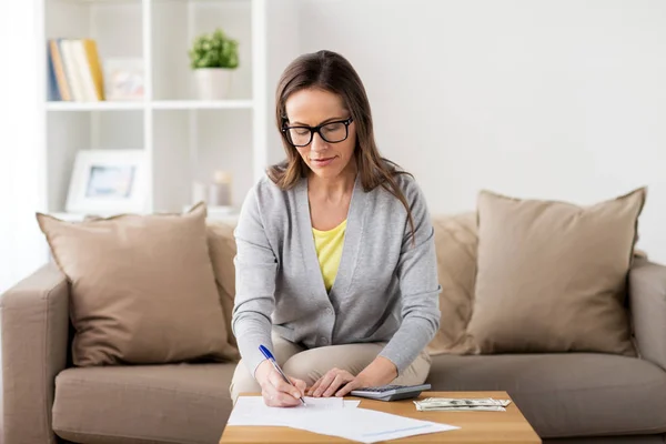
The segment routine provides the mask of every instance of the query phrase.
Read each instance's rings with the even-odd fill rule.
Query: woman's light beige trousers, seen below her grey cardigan
[[[289,376],[305,381],[309,387],[334,367],[357,375],[386,345],[386,343],[344,344],[305,350],[278,336],[275,333],[272,337],[273,354],[278,364]],[[423,351],[391,384],[423,384],[430,372],[430,355]],[[229,390],[234,404],[241,393],[261,393],[261,387],[242,360],[233,373]]]

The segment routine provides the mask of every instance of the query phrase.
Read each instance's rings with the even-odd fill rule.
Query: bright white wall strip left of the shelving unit
[[[34,219],[43,134],[36,14],[32,1],[0,3],[0,293],[47,259]]]

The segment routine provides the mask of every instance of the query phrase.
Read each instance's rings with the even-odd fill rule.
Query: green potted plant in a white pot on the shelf
[[[239,43],[221,29],[194,39],[189,51],[199,98],[222,100],[229,95],[232,72],[239,65]]]

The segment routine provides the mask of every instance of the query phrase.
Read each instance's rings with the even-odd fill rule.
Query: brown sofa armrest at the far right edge
[[[640,357],[666,370],[666,266],[635,262],[629,271],[629,310]]]

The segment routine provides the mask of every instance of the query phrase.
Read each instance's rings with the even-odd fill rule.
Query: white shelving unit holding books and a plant
[[[232,173],[240,206],[266,165],[283,158],[274,128],[274,91],[297,56],[296,0],[40,0],[44,42],[43,172],[40,211],[65,214],[79,150],[141,149],[148,164],[147,212],[180,212],[194,181]],[[196,100],[188,50],[202,32],[222,28],[239,40],[240,65],[229,100]],[[105,58],[141,58],[141,101],[56,102],[47,98],[48,39],[90,38]]]

